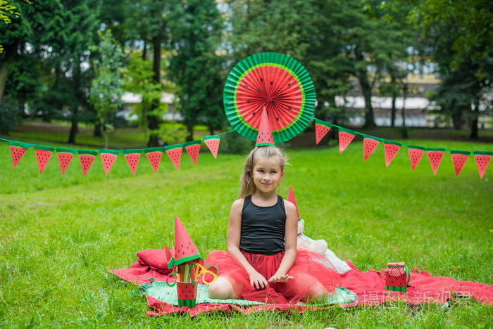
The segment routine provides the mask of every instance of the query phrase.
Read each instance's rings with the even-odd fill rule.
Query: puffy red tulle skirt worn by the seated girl
[[[266,280],[275,274],[281,264],[284,252],[278,254],[249,254],[241,250],[251,266]],[[265,289],[257,290],[250,284],[250,278],[243,265],[229,252],[213,250],[208,254],[206,266],[214,265],[219,276],[227,278],[239,299],[268,303],[306,302],[313,291],[327,290],[332,293],[340,283],[339,273],[325,257],[308,250],[297,250],[294,265],[287,272],[293,278],[286,283],[269,283]]]

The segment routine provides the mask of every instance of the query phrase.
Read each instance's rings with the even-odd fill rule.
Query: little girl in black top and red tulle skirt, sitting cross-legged
[[[227,252],[212,251],[206,264],[220,276],[210,298],[287,303],[319,299],[334,292],[339,274],[325,257],[297,250],[297,212],[277,195],[286,157],[275,146],[254,148],[240,179],[227,227]]]

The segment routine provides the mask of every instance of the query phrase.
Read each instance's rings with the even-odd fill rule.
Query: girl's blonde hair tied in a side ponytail
[[[287,164],[287,157],[280,148],[276,148],[275,146],[258,146],[251,150],[248,157],[246,157],[242,176],[239,178],[239,185],[241,187],[239,199],[255,193],[257,189],[253,177],[255,161],[260,158],[269,159],[271,157],[275,157],[279,160],[281,171],[284,171],[285,164]]]

